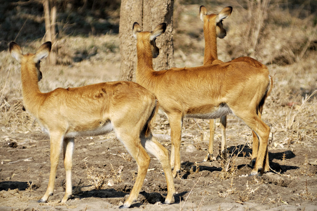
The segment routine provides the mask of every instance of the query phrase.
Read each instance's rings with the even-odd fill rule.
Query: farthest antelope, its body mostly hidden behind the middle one
[[[223,28],[222,22],[223,22],[223,19],[225,19],[231,15],[231,12],[232,12],[232,7],[225,7],[220,11],[219,14],[207,15],[206,7],[204,7],[203,5],[200,6],[199,14],[200,14],[200,19],[204,23],[204,37],[205,37],[204,65],[223,63],[223,61],[218,60],[217,37],[222,39],[227,35],[226,30]],[[238,57],[238,58],[231,60],[227,63],[232,63],[232,62],[247,62],[256,68],[268,70],[268,67],[266,65],[258,62],[257,60],[255,60],[249,56]],[[272,78],[271,78],[271,80],[272,80]],[[271,86],[273,87],[273,80],[271,81]],[[272,87],[269,89],[266,96],[269,95],[270,91],[272,90]],[[265,99],[263,99],[263,100],[265,100]],[[261,105],[262,106],[260,106],[258,109],[259,118],[261,118],[261,115],[262,115],[264,102]],[[226,130],[226,125],[227,125],[226,116],[222,116],[220,118],[220,123],[221,123],[221,129],[222,129],[221,152],[223,152],[223,150],[225,148],[224,146],[226,143],[226,139],[225,139],[225,130]],[[215,132],[215,124],[214,124],[214,120],[211,119],[210,120],[209,149],[208,149],[208,153],[207,153],[204,161],[207,161],[210,157],[212,157],[214,132]],[[259,141],[258,141],[258,138],[256,136],[256,133],[253,130],[252,130],[252,135],[253,135],[253,147],[252,147],[252,157],[251,157],[250,166],[255,165],[257,154],[258,154],[258,148],[259,148]],[[269,171],[268,150],[267,150],[264,170]]]

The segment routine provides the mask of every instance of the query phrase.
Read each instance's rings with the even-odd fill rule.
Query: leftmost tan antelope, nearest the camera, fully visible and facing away
[[[135,82],[125,81],[57,88],[42,93],[38,87],[42,78],[40,60],[49,55],[51,45],[51,42],[46,42],[35,54],[24,55],[18,44],[11,42],[9,47],[10,54],[21,64],[24,107],[39,120],[50,136],[49,184],[38,202],[46,202],[53,195],[61,146],[66,170],[66,192],[61,202],[66,202],[72,195],[74,137],[101,135],[113,130],[138,165],[138,176],[131,194],[119,208],[129,208],[137,199],[151,160],[146,150],[163,167],[168,189],[165,203],[171,203],[175,188],[168,151],[153,138],[149,129],[157,110],[155,95]]]

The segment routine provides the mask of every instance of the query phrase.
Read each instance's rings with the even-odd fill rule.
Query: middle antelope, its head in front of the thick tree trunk
[[[230,112],[242,119],[258,136],[259,157],[251,175],[256,175],[260,169],[262,175],[270,128],[257,113],[271,89],[268,70],[246,62],[235,62],[155,71],[152,58],[159,55],[155,39],[165,29],[166,23],[161,23],[152,32],[142,32],[138,23],[133,24],[138,56],[135,76],[136,82],[154,92],[159,109],[170,122],[173,176],[180,170],[183,118],[214,119]]]

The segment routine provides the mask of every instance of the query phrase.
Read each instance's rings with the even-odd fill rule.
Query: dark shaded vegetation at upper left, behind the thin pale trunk
[[[45,34],[41,0],[0,1],[0,50],[8,43],[25,43]],[[57,9],[57,39],[63,36],[91,36],[119,32],[119,0],[52,0]]]

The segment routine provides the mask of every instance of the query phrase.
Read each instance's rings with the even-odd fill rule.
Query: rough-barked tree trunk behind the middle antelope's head
[[[153,69],[161,70],[175,66],[173,49],[173,3],[174,0],[138,1],[122,0],[120,8],[120,79],[135,81],[137,67],[136,40],[132,25],[138,22],[142,31],[152,31],[155,26],[165,22],[166,31],[156,40],[160,54],[153,59]]]

